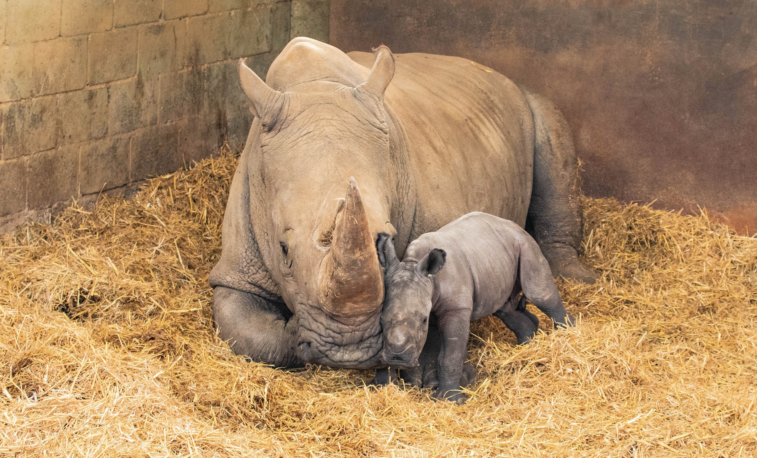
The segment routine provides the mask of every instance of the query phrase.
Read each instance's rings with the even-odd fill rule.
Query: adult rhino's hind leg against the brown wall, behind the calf
[[[597,274],[578,260],[583,235],[581,184],[568,122],[546,97],[523,92],[536,130],[526,227],[550,262],[553,277],[594,283]]]

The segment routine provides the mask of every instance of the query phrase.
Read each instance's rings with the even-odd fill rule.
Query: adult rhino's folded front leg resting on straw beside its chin
[[[213,289],[213,320],[236,354],[275,367],[303,367],[297,355],[296,320],[283,303],[238,289]]]

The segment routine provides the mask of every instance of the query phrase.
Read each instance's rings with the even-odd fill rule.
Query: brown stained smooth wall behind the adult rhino
[[[562,108],[594,197],[757,231],[757,2],[332,0],[331,43],[469,57]]]

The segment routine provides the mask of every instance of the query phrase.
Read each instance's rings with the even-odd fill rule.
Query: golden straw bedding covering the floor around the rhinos
[[[0,243],[0,456],[753,456],[757,240],[588,200],[575,329],[475,324],[468,404],[370,372],[273,370],[213,335],[236,158]],[[546,323],[543,315],[542,323]]]

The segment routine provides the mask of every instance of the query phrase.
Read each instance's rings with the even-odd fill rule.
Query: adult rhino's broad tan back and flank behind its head
[[[347,54],[366,67],[373,56]],[[470,60],[394,54],[385,105],[407,132],[418,187],[415,234],[473,211],[523,226],[531,199],[534,122],[522,91]]]

